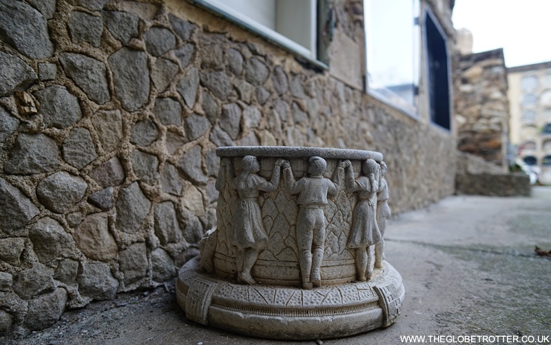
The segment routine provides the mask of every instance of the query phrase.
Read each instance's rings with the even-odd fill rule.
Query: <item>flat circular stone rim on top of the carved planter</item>
[[[361,149],[333,149],[322,147],[289,147],[289,146],[231,146],[218,147],[216,155],[219,157],[283,157],[307,158],[320,156],[329,159],[367,160],[369,158],[381,162],[383,155],[376,151]]]

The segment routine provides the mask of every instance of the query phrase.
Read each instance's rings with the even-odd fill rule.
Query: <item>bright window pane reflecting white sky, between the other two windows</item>
[[[417,113],[419,0],[366,0],[368,90]]]

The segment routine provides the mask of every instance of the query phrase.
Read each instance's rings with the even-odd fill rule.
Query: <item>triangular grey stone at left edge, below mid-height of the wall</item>
[[[0,209],[0,229],[5,233],[23,227],[40,213],[29,198],[3,178],[0,178]]]

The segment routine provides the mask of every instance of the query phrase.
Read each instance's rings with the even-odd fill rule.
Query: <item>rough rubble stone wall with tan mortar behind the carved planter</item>
[[[381,151],[395,213],[453,193],[449,133],[186,1],[3,1],[0,60],[0,333],[174,278],[218,146]]]

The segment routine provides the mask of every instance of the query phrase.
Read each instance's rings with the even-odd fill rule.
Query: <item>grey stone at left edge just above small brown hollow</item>
[[[34,70],[17,56],[0,52],[0,96],[23,91],[37,81]]]

